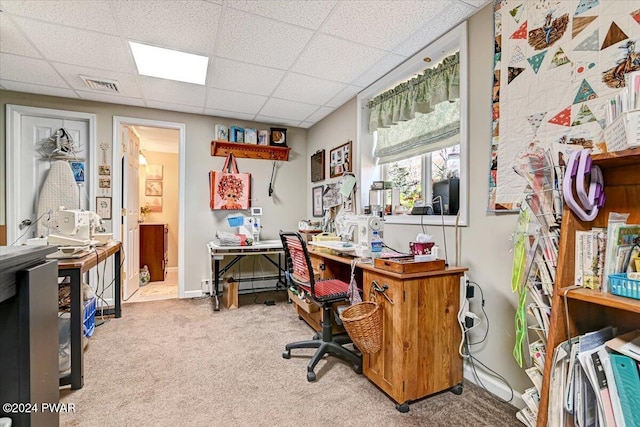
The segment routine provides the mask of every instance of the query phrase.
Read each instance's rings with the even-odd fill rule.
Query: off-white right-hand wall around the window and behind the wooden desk
[[[490,320],[486,342],[475,346],[476,355],[484,364],[504,376],[511,386],[522,392],[531,387],[524,371],[516,364],[514,345],[514,314],[517,297],[511,292],[512,254],[509,237],[514,230],[516,216],[487,212],[489,192],[489,156],[491,148],[491,91],[493,84],[493,15],[491,5],[469,20],[469,226],[460,228],[460,265],[469,268],[469,278],[477,282],[485,294],[485,310]],[[355,99],[309,129],[310,156],[320,148],[328,150],[342,144],[356,134]],[[355,141],[355,140],[354,140]],[[362,148],[361,148],[362,149]],[[360,153],[354,152],[359,156]],[[310,177],[310,167],[307,166]],[[328,175],[327,175],[328,176]],[[310,181],[310,179],[308,180]],[[322,182],[326,183],[326,181]],[[319,183],[314,183],[317,185]],[[311,185],[307,186],[308,189]],[[307,202],[307,215],[311,204]],[[385,243],[398,250],[408,251],[408,242],[421,231],[419,225],[385,225]],[[429,226],[442,248],[441,227]],[[454,264],[455,229],[447,227],[447,246],[450,264]],[[472,310],[481,313],[479,292],[472,302]],[[473,340],[476,340],[474,337]]]

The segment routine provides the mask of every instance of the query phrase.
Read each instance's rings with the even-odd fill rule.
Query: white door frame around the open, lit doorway
[[[167,129],[176,129],[178,136],[178,297],[185,298],[184,295],[184,241],[185,241],[185,147],[186,147],[186,125],[184,123],[166,122],[162,120],[140,119],[135,117],[113,116],[113,150],[111,177],[113,198],[112,208],[114,212],[113,235],[117,240],[121,240],[122,225],[122,126],[149,126]],[[116,221],[115,218],[119,218]]]

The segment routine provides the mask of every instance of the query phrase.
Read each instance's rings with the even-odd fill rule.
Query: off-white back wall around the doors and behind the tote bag
[[[230,231],[226,218],[232,213],[238,212],[229,213],[209,209],[209,171],[221,169],[224,163],[223,157],[211,156],[214,126],[217,123],[223,123],[228,126],[239,125],[268,129],[269,125],[150,108],[0,91],[0,106],[3,112],[6,109],[6,104],[93,113],[97,117],[96,137],[98,144],[101,142],[112,144],[113,116],[184,123],[186,125],[186,227],[184,236],[181,236],[185,239],[184,287],[187,296],[197,295],[201,290],[201,280],[208,278],[207,242],[213,239],[218,229]],[[2,190],[4,190],[6,182],[4,176],[5,129],[5,114],[0,114],[0,160],[2,160],[0,187]],[[301,176],[305,176],[306,165],[309,163],[306,140],[306,129],[289,128],[287,142],[291,147],[291,153],[288,162],[280,162],[278,165],[275,176],[275,192],[272,197],[268,196],[272,162],[238,159],[240,171],[252,174],[252,205],[263,208],[263,232],[261,234],[263,239],[278,238],[280,229],[293,230],[297,228],[298,220],[306,215],[306,205],[303,200],[307,199],[307,187],[305,181],[300,179]],[[110,153],[108,158],[111,159]],[[2,197],[0,200],[0,212],[2,212],[0,222],[2,223],[4,223],[5,210],[5,199]]]

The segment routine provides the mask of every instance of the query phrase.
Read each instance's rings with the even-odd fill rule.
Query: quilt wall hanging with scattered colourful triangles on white
[[[495,0],[493,12],[489,210],[516,210],[527,182],[514,166],[532,149],[604,150],[604,106],[640,70],[640,2]]]

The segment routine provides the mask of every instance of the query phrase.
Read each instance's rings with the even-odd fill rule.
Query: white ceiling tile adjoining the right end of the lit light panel
[[[216,58],[210,68],[208,86],[258,95],[270,95],[285,74],[282,70],[224,58]]]

